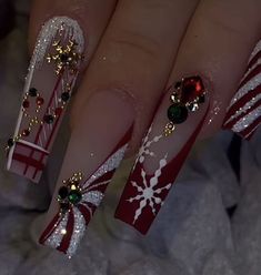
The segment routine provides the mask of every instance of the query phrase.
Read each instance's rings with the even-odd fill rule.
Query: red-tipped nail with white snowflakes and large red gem
[[[200,77],[171,85],[145,135],[116,217],[142,234],[150,228],[205,120],[209,96]]]

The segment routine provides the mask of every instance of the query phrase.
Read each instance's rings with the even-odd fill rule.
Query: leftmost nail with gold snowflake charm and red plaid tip
[[[14,134],[7,142],[7,169],[39,182],[83,59],[83,33],[76,20],[50,19],[42,27]]]

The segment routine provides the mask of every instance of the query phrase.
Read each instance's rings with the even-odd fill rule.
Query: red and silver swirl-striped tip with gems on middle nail
[[[58,213],[42,233],[40,244],[56,248],[69,257],[74,255],[87,225],[124,156],[131,134],[132,126],[90,176],[84,179],[83,173],[79,172],[63,181],[63,186],[58,192]]]

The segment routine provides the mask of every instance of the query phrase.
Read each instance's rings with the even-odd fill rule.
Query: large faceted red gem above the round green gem
[[[204,85],[200,77],[187,78],[182,82],[181,101],[182,103],[191,102],[203,92]]]

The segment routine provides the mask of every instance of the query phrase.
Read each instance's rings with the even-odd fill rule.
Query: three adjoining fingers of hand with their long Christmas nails
[[[82,73],[70,113],[71,139],[41,243],[69,255],[76,252],[127,146],[127,155],[137,153],[148,129],[117,217],[141,233],[149,230],[194,141],[222,125],[259,39],[259,10],[257,0],[34,1],[31,49],[50,18],[56,19],[44,24],[34,53],[41,53],[46,37],[57,43],[49,41],[40,69],[31,67],[29,72],[23,109],[33,118],[28,111],[31,88],[44,103],[36,106],[39,123],[31,123],[28,132],[23,132],[28,116],[20,115],[20,132],[9,141],[10,170],[40,179],[74,80]],[[67,37],[68,29],[72,38]],[[61,55],[70,42],[74,63]],[[53,100],[48,108],[52,91],[60,105]],[[40,161],[32,161],[33,153],[29,159],[18,156],[22,146],[27,154],[36,150]]]

